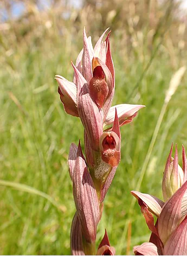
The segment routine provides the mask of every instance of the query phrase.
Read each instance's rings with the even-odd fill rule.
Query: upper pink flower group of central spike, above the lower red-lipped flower
[[[87,37],[85,29],[83,30],[83,49],[75,66],[72,64],[73,82],[60,75],[55,76],[65,111],[72,116],[80,117],[94,150],[99,150],[99,138],[103,127],[107,125],[112,127],[115,108],[121,126],[130,123],[138,110],[144,107],[144,105],[131,104],[111,107],[115,88],[115,72],[109,45],[110,31],[103,41],[107,30],[94,48],[91,37]]]

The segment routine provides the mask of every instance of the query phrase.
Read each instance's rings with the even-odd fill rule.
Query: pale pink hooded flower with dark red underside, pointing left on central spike
[[[55,79],[59,84],[58,92],[66,113],[74,117],[79,117],[76,107],[76,85],[73,82],[63,78],[61,75],[55,75]]]

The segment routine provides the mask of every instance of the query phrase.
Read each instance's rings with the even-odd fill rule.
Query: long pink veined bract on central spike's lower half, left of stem
[[[86,241],[92,243],[96,239],[96,226],[99,221],[99,202],[92,177],[88,172],[81,146],[75,161],[73,175],[73,196],[76,210]]]

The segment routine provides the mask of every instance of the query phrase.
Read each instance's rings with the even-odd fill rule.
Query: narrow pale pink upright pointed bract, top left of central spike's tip
[[[86,81],[92,78],[92,59],[93,59],[93,47],[91,47],[91,40],[88,40],[86,36],[85,28],[83,30],[83,55],[82,55],[82,73]]]

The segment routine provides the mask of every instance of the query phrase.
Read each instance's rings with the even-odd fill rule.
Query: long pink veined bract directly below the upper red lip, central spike
[[[76,81],[78,83],[78,113],[91,142],[92,149],[98,150],[99,139],[102,135],[103,112],[101,108],[92,100],[85,78],[83,78],[81,73],[74,65],[73,68],[76,75]]]

